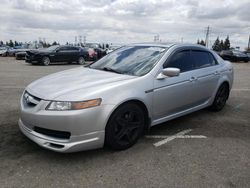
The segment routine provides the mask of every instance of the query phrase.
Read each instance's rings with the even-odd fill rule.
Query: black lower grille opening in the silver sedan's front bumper
[[[56,131],[56,130],[51,130],[51,129],[45,129],[41,127],[34,127],[34,131],[46,136],[51,136],[54,138],[62,138],[62,139],[69,139],[70,138],[70,132],[66,131]]]

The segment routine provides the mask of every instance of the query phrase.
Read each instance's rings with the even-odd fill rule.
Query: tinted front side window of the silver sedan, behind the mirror
[[[190,51],[184,50],[181,52],[177,52],[170,57],[170,60],[167,62],[166,67],[175,67],[179,68],[181,72],[189,71],[194,69],[193,62],[190,58]]]

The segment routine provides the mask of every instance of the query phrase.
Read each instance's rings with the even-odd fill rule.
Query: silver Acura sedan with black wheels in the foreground
[[[203,108],[220,111],[232,84],[232,65],[205,47],[127,45],[89,67],[31,83],[19,127],[57,152],[127,149],[154,125]]]

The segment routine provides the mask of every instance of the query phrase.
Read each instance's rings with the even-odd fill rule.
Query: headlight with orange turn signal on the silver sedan
[[[81,110],[100,106],[102,99],[92,99],[81,102],[67,102],[67,101],[51,101],[46,107],[46,110],[64,111],[64,110]]]

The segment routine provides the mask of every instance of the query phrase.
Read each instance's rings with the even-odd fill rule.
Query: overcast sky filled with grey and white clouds
[[[250,0],[0,0],[0,40],[209,44],[230,37],[231,46],[247,47]]]

